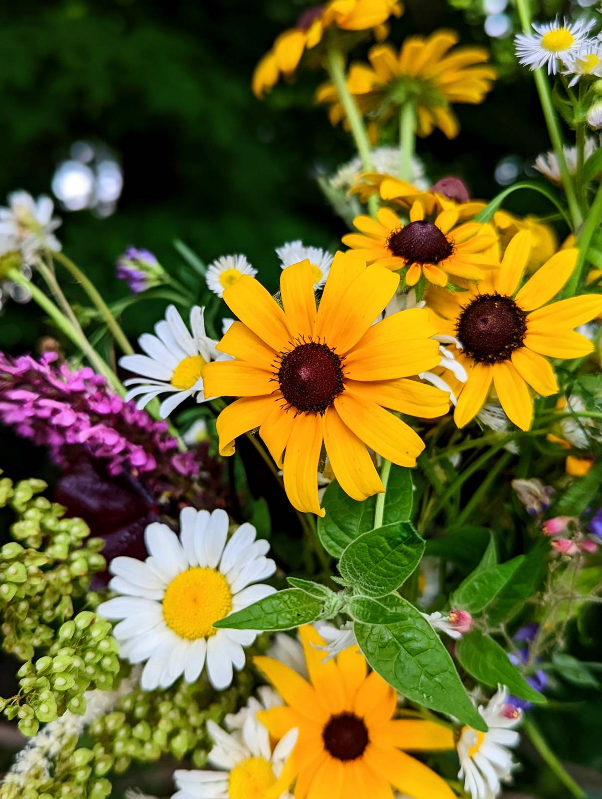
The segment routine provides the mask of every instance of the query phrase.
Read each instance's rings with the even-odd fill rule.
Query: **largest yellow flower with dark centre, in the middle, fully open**
[[[259,427],[299,511],[324,515],[322,443],[344,491],[365,499],[384,491],[366,446],[406,467],[425,446],[385,407],[429,418],[447,411],[444,392],[409,380],[440,360],[429,312],[413,308],[373,324],[398,283],[393,272],[337,252],[318,309],[309,260],[281,273],[284,310],[249,276],[225,289],[241,321],[217,348],[237,360],[203,372],[205,393],[242,399],[217,419],[220,452],[232,455],[233,440]]]

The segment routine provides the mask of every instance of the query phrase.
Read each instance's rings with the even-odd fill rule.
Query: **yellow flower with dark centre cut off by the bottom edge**
[[[255,664],[285,701],[258,714],[278,740],[298,729],[297,746],[280,785],[296,779],[297,799],[393,799],[392,788],[414,799],[454,799],[447,783],[405,751],[454,748],[452,730],[435,721],[394,719],[397,694],[350,646],[324,662],[320,634],[299,630],[309,682],[273,658]]]

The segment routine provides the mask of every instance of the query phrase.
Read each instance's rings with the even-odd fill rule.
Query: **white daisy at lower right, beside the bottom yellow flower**
[[[513,727],[520,724],[522,714],[508,705],[508,689],[499,686],[488,706],[479,706],[488,731],[481,733],[464,726],[457,743],[460,757],[458,777],[464,778],[464,790],[472,799],[495,799],[501,783],[508,782],[515,767],[508,746],[516,746],[520,735]]]

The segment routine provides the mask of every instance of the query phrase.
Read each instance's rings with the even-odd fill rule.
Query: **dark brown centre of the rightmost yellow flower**
[[[527,314],[512,297],[481,294],[462,309],[456,332],[466,355],[483,364],[508,360],[524,341]]]

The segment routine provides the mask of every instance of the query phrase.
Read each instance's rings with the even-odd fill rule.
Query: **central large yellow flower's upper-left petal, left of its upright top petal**
[[[236,283],[225,289],[224,301],[235,316],[265,344],[269,344],[276,352],[287,348],[292,336],[285,312],[259,280],[242,275]]]

